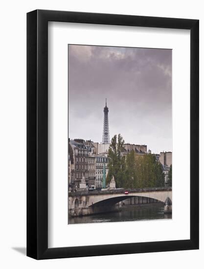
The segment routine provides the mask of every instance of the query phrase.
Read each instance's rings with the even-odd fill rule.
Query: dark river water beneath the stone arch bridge
[[[172,218],[171,214],[164,214],[163,212],[163,203],[123,205],[120,212],[74,217],[69,219],[69,224],[128,222]]]

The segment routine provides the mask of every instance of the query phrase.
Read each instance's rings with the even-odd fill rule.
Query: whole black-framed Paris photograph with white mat
[[[27,13],[27,256],[199,248],[199,21]]]

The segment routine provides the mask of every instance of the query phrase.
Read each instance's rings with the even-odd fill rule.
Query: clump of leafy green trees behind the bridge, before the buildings
[[[124,140],[115,134],[108,151],[109,173],[107,182],[114,176],[117,188],[151,188],[164,186],[161,164],[152,154],[136,155],[131,151],[122,155]]]

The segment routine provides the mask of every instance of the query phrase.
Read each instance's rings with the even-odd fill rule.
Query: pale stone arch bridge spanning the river
[[[167,197],[172,201],[172,188],[104,189],[101,191],[69,192],[68,213],[69,216],[74,217],[119,211],[121,210],[122,201],[133,197],[137,199],[137,203],[143,203],[143,199],[146,202],[164,203]]]

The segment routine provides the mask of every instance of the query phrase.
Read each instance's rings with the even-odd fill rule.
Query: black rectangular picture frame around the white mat
[[[48,248],[48,22],[190,30],[190,239]],[[199,20],[34,10],[27,13],[27,256],[53,259],[199,248]]]

